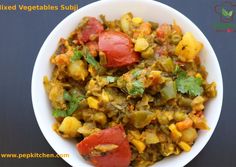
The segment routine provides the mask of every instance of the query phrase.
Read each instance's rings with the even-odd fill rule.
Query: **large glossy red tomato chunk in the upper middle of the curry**
[[[130,37],[122,32],[104,31],[99,35],[99,51],[106,55],[106,67],[122,67],[138,62]]]

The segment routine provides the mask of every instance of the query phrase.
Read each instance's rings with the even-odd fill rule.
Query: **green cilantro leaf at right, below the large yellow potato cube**
[[[177,71],[177,79],[175,80],[177,90],[181,93],[188,93],[190,96],[199,96],[203,93],[202,80],[192,76],[180,69]]]

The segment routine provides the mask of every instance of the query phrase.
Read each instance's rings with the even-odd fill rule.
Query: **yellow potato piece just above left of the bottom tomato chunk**
[[[59,132],[63,133],[63,137],[76,137],[77,130],[81,127],[81,122],[75,117],[66,117],[59,126]]]

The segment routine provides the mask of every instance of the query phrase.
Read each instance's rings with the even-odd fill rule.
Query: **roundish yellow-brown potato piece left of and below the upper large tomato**
[[[71,62],[68,66],[69,75],[75,80],[85,80],[88,76],[87,64],[82,60]]]

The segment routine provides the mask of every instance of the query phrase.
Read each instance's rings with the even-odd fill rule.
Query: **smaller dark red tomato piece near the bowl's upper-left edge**
[[[102,24],[94,17],[88,17],[88,22],[82,28],[81,39],[82,42],[88,42],[91,38],[98,37],[99,33],[104,30]]]

